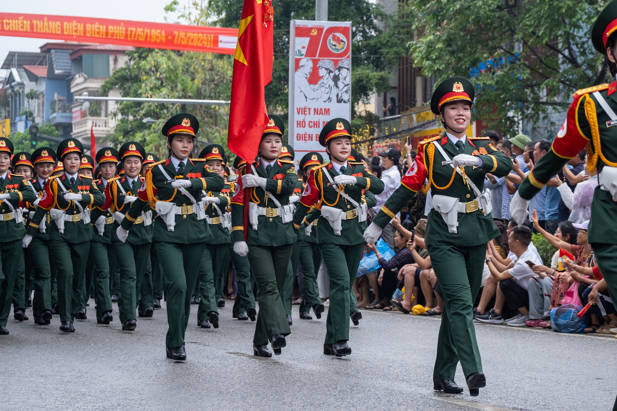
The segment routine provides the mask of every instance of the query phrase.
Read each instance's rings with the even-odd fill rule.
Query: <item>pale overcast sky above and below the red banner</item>
[[[102,19],[126,19],[141,22],[164,23],[163,7],[172,0],[28,0],[2,1],[2,12],[57,14]],[[179,0],[181,5],[189,0]],[[34,51],[48,41],[42,38],[0,36],[0,64],[9,51]],[[0,70],[4,77],[6,70]]]

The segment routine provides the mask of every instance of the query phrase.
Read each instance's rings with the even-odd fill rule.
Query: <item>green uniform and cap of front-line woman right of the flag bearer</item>
[[[321,130],[320,144],[327,146],[333,139],[350,138],[350,133],[351,125],[347,120],[334,118]],[[346,342],[349,340],[350,285],[358,270],[364,246],[364,225],[359,221],[366,219],[362,192],[379,194],[384,184],[368,173],[362,162],[346,159],[342,165],[336,163],[335,167],[334,164],[311,170],[294,214],[294,225],[300,228],[311,207],[321,210],[321,217],[317,220],[317,243],[330,279],[324,354],[347,355],[351,352]]]

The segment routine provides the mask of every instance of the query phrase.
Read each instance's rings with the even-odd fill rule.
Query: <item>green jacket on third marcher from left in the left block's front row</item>
[[[122,189],[118,187],[118,183],[122,186],[125,193],[122,193]],[[133,203],[124,204],[124,199],[126,196],[137,196],[137,191],[144,183],[144,178],[141,176],[137,177],[135,181],[135,191],[131,189],[131,186],[126,179],[126,176],[110,178],[107,180],[107,188],[105,189],[105,205],[112,210],[112,212],[121,212],[126,215],[126,212],[133,206]],[[150,210],[150,204],[144,205],[141,212],[147,213]],[[138,214],[138,218],[141,217],[141,212]],[[156,212],[152,212],[152,218],[154,218]],[[112,242],[120,241],[118,239],[118,235],[116,234],[116,230],[119,224],[114,221],[112,224],[111,230],[111,239]],[[141,221],[139,223],[134,223],[131,225],[130,230],[128,230],[128,237],[126,238],[126,243],[128,244],[146,244],[152,243],[152,233],[154,233],[154,224],[149,226],[145,226],[144,222]]]

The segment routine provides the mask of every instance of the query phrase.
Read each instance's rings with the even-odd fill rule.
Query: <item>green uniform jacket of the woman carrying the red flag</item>
[[[294,193],[298,181],[294,162],[276,160],[270,173],[266,173],[261,162],[255,163],[254,166],[257,175],[268,180],[266,191],[273,194],[281,206],[288,205],[289,196]],[[238,171],[238,185],[236,186],[236,193],[231,199],[231,239],[234,242],[244,241],[244,201],[254,202],[259,207],[276,208],[275,202],[266,196],[261,187],[246,190],[250,193],[250,199],[245,198],[246,194],[245,190],[242,189],[241,176],[250,174],[251,167],[249,165],[247,170],[247,166],[244,165]],[[259,222],[258,230],[253,230],[251,224],[247,222],[247,244],[252,246],[282,246],[296,242],[297,236],[292,222],[283,223],[281,217],[266,217],[265,215],[257,217],[257,221]]]

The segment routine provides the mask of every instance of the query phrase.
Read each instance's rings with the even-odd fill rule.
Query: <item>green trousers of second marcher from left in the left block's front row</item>
[[[54,255],[58,270],[60,322],[73,322],[77,312],[81,309],[89,251],[90,241],[83,243],[49,241],[49,252]]]

